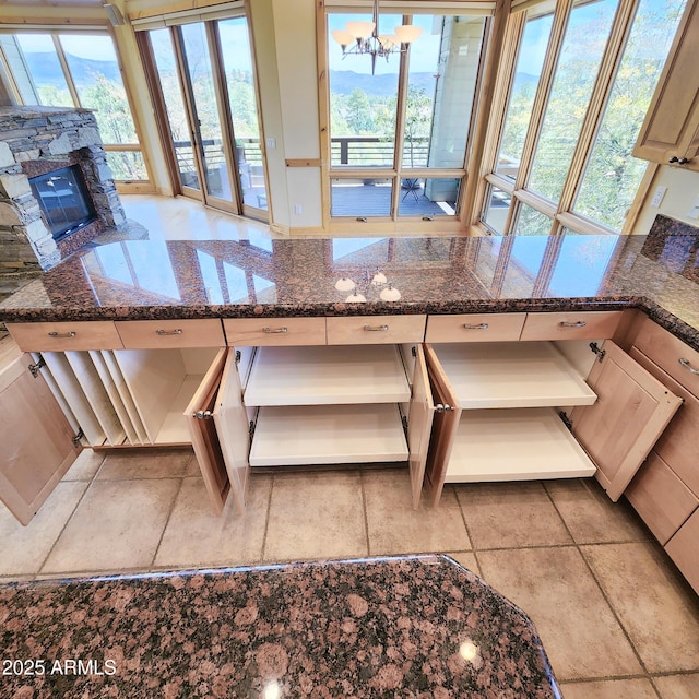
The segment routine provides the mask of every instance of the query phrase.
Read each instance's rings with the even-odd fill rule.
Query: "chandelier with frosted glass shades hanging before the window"
[[[379,34],[379,0],[374,0],[372,22],[347,22],[344,29],[333,29],[332,37],[342,46],[342,57],[367,54],[371,57],[371,74],[376,58],[386,58],[392,54],[407,51],[410,45],[419,38],[422,27],[402,24],[395,27],[395,34]]]

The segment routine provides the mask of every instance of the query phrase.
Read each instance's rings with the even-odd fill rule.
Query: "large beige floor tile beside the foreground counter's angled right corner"
[[[573,546],[478,554],[485,580],[532,618],[559,682],[641,666]]]

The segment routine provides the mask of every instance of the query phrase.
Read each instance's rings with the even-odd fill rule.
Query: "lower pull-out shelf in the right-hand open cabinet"
[[[594,475],[596,469],[553,408],[464,412],[446,483]]]

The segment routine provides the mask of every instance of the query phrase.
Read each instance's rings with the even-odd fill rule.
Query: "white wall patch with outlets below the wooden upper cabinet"
[[[650,202],[659,187],[667,187],[667,191],[661,205],[655,209],[650,205]],[[689,211],[695,203],[699,203],[699,173],[663,165],[648,190],[645,204],[641,209],[632,233],[647,234],[656,214],[664,214],[699,227],[699,220],[689,217]]]

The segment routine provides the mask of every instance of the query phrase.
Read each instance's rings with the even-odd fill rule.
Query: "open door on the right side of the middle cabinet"
[[[413,393],[411,395],[410,417],[407,420],[407,448],[410,450],[408,463],[413,507],[417,509],[425,479],[435,403],[429,388],[429,376],[422,345],[415,346],[415,354]]]

